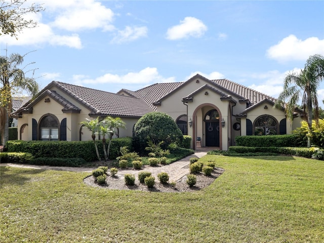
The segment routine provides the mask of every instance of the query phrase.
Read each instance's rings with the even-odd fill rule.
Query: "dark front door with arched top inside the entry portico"
[[[205,135],[207,147],[219,147],[219,113],[216,109],[206,113],[205,118]]]

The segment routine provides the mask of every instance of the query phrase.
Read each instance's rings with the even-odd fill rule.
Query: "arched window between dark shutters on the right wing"
[[[254,122],[254,135],[278,134],[278,122],[270,115],[259,116]]]

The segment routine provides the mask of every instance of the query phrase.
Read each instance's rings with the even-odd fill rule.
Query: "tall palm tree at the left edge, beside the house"
[[[38,84],[33,77],[26,77],[24,68],[19,68],[24,56],[11,54],[9,57],[0,56],[0,116],[2,144],[9,139],[9,116],[12,112],[12,97],[18,90],[25,90],[35,97],[38,93]]]

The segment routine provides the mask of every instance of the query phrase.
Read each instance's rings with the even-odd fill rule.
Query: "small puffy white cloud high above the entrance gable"
[[[207,31],[207,26],[203,21],[194,17],[185,17],[179,25],[168,29],[167,39],[175,40],[192,37],[200,37]]]

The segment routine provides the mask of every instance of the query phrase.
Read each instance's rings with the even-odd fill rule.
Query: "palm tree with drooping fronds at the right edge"
[[[304,110],[308,125],[307,147],[311,146],[311,128],[314,107],[314,119],[318,123],[318,99],[317,90],[324,79],[324,57],[321,55],[310,56],[305,68],[300,73],[289,73],[284,82],[284,90],[279,94],[274,107],[279,108],[286,100],[286,114],[289,120],[293,120],[297,103],[302,97],[301,106]]]

